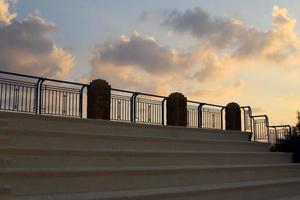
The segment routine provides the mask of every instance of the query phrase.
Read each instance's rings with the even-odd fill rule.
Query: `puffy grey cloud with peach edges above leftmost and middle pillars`
[[[119,68],[136,66],[157,74],[187,65],[189,55],[160,46],[153,37],[143,38],[135,32],[129,38],[122,36],[119,40],[97,45],[93,60]]]

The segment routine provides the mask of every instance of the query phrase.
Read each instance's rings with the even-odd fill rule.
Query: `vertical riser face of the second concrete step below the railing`
[[[0,133],[1,134],[1,133]],[[77,137],[76,135],[9,135],[11,146],[28,148],[74,148],[74,149],[132,149],[155,151],[237,151],[267,152],[265,145],[218,141],[180,141],[130,137]]]

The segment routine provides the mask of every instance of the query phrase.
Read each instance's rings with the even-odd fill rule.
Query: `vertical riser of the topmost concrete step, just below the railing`
[[[1,115],[1,113],[0,113]],[[77,132],[90,132],[90,133],[113,133],[120,135],[131,135],[131,136],[157,136],[157,137],[173,137],[173,138],[198,138],[198,139],[219,139],[219,140],[237,140],[247,141],[248,135],[245,133],[235,132],[223,132],[219,130],[209,129],[187,129],[183,128],[166,128],[157,126],[145,126],[145,125],[132,125],[130,123],[116,123],[116,122],[103,122],[94,121],[94,123],[85,123],[78,121],[78,119],[72,119],[70,121],[62,120],[42,120],[36,118],[35,120],[22,119],[6,119],[8,126],[12,128],[21,129],[34,129],[34,130],[59,130],[59,131],[77,131]],[[91,120],[90,120],[91,121]],[[184,131],[184,134],[183,134]]]

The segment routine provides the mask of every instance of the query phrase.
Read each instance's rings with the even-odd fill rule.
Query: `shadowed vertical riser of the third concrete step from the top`
[[[100,167],[100,166],[186,166],[186,165],[236,165],[275,164],[291,162],[291,155],[247,155],[247,154],[165,154],[165,155],[14,155],[0,153],[0,167]]]

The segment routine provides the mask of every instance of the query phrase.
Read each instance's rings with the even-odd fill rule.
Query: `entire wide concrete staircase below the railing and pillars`
[[[0,112],[0,199],[299,199],[292,155],[247,139],[236,131]]]

